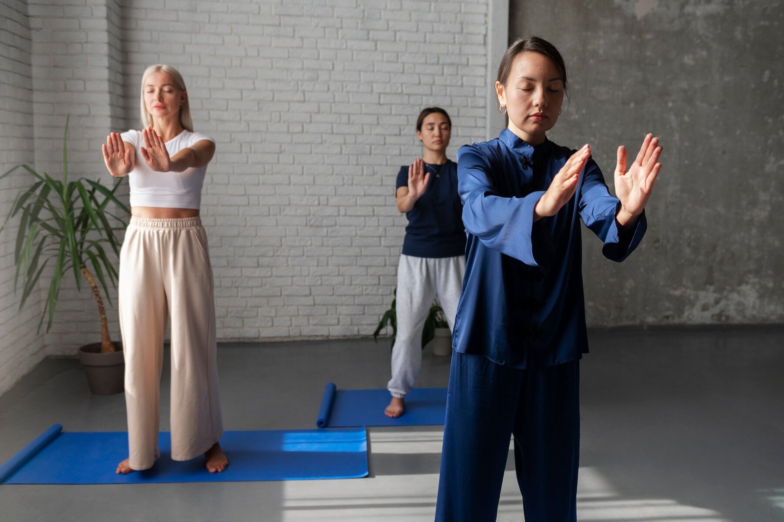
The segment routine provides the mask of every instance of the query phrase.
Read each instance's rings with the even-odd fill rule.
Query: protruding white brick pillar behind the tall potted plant
[[[108,129],[125,125],[120,17],[117,0],[30,0],[35,165],[55,178],[63,172],[63,131],[70,114],[68,179],[112,182],[100,143]],[[96,304],[82,282],[82,292],[77,292],[73,276],[64,277],[56,323],[45,335],[47,353],[74,353],[76,347],[99,340]],[[112,335],[119,339],[116,309],[108,307],[107,312]]]

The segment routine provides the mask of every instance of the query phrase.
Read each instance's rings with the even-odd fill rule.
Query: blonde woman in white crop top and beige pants
[[[131,222],[120,253],[119,317],[125,351],[129,458],[117,473],[158,459],[159,382],[171,317],[172,459],[205,455],[210,473],[228,465],[216,369],[212,266],[199,218],[201,186],[215,154],[212,138],[193,131],[183,78],[167,65],[142,77],[144,129],[111,132],[103,160],[129,176]]]

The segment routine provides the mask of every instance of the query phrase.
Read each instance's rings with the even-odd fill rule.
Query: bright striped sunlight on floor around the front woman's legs
[[[371,451],[388,455],[423,455],[441,451],[442,432],[368,433]],[[371,455],[371,469],[372,455]],[[376,473],[383,470],[376,470]],[[415,470],[410,470],[414,472]],[[438,474],[379,474],[351,480],[299,480],[283,483],[281,522],[432,522]],[[776,491],[776,493],[779,493]],[[784,502],[784,494],[770,497]],[[499,522],[521,522],[523,508],[514,469],[504,473]],[[736,522],[711,509],[686,506],[666,498],[622,498],[595,467],[579,470],[577,517],[583,522]]]

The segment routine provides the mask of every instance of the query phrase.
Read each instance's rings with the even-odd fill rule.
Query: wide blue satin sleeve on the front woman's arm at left
[[[503,172],[497,172],[503,175]],[[457,190],[463,201],[463,224],[482,245],[531,266],[550,263],[554,241],[534,223],[534,206],[544,191],[523,198],[500,196],[491,183],[492,169],[485,154],[472,145],[457,151]]]

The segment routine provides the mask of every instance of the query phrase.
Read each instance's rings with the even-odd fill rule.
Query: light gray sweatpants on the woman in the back
[[[405,397],[422,368],[422,330],[434,299],[455,325],[466,257],[414,257],[402,254],[397,266],[397,338],[392,347],[392,397]]]

